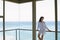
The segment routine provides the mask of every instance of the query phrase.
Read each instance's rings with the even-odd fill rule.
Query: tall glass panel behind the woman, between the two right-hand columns
[[[36,2],[36,29],[38,28],[38,21],[41,16],[44,17],[44,22],[46,26],[51,31],[55,31],[55,10],[54,10],[54,0],[44,0]],[[55,32],[46,32],[44,35],[44,40],[55,40]],[[38,33],[37,33],[38,35]],[[49,37],[48,37],[49,36]],[[38,36],[37,36],[38,40]]]

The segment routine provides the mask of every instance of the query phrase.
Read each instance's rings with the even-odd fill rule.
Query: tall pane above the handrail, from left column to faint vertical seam
[[[12,2],[5,2],[5,29],[19,28],[19,5]]]

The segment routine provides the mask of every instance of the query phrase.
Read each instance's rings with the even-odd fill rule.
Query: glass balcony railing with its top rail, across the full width
[[[2,30],[0,31],[0,40],[2,38]],[[58,31],[58,40],[59,40],[60,31]],[[31,29],[10,29],[5,30],[6,40],[32,40],[32,30]],[[38,31],[36,30],[36,40],[38,40]],[[44,40],[55,40],[55,31],[46,32]]]

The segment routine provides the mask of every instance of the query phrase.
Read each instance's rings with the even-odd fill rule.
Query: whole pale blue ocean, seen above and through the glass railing
[[[55,30],[55,22],[49,21],[45,22],[47,27],[50,30]],[[36,22],[37,29],[38,22]],[[0,22],[0,30],[3,29],[3,24]],[[32,30],[32,22],[6,22],[5,29],[31,29]],[[60,21],[58,21],[58,31],[60,31]],[[19,33],[20,32],[20,33]],[[20,34],[20,35],[19,35]],[[32,40],[32,31],[27,30],[16,30],[6,31],[5,32],[6,40]],[[60,33],[58,33],[58,40],[60,39]],[[0,40],[3,40],[3,33],[0,32]],[[36,31],[36,40],[38,40],[38,31]],[[44,35],[44,40],[55,40],[55,32],[46,32]]]

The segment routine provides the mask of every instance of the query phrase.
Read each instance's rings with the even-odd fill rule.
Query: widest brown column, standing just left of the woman
[[[36,0],[32,1],[32,40],[36,40]]]

